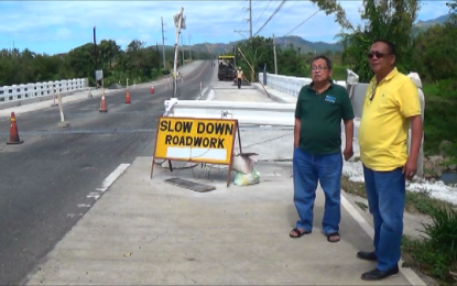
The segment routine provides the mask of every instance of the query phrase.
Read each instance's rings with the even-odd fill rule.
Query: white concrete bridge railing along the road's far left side
[[[45,97],[87,88],[87,78],[75,78],[58,81],[36,82],[0,87],[0,102]]]

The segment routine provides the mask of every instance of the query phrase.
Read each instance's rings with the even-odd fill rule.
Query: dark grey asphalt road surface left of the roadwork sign
[[[215,68],[200,62],[179,82],[179,99],[196,99],[200,81],[208,86]],[[108,95],[107,113],[100,97],[65,105],[61,129],[58,108],[17,114],[20,145],[7,145],[10,122],[0,120],[0,285],[17,285],[94,205],[90,193],[122,163],[152,156],[156,121],[166,84]],[[89,197],[88,197],[89,196]]]

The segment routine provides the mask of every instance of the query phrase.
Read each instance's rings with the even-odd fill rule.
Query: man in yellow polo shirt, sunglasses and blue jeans
[[[360,251],[357,257],[378,261],[377,268],[363,273],[361,278],[379,280],[399,273],[405,180],[416,174],[423,128],[417,88],[398,72],[395,46],[389,41],[374,41],[368,58],[374,77],[364,96],[359,143],[369,210],[374,221],[374,251]]]

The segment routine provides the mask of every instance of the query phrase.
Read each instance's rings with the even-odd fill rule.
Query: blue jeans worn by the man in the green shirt
[[[313,230],[314,200],[319,182],[325,194],[323,231],[326,234],[339,231],[341,170],[341,153],[313,155],[294,148],[294,204],[300,217],[296,228],[309,232]]]

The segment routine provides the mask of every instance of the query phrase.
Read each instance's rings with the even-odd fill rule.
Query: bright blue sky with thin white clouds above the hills
[[[289,0],[262,28],[282,1],[251,1],[252,34],[270,37],[297,35],[333,43],[340,28],[306,0]],[[447,1],[423,1],[418,20],[448,13]],[[353,25],[361,23],[362,1],[340,1]],[[40,54],[67,53],[96,40],[115,40],[121,48],[133,40],[146,45],[174,45],[173,16],[184,8],[184,44],[229,43],[249,37],[249,1],[0,1],[0,50],[29,48]],[[316,13],[317,12],[317,13]],[[311,16],[311,18],[309,18]],[[306,20],[308,19],[309,20]],[[303,21],[306,22],[298,26]],[[298,26],[298,28],[297,28]],[[296,29],[295,29],[296,28]],[[294,30],[295,29],[295,30]],[[291,31],[294,30],[292,33]],[[239,32],[236,32],[239,31]],[[243,32],[240,32],[243,31]],[[246,32],[244,32],[246,31]],[[179,44],[181,44],[179,40]]]

